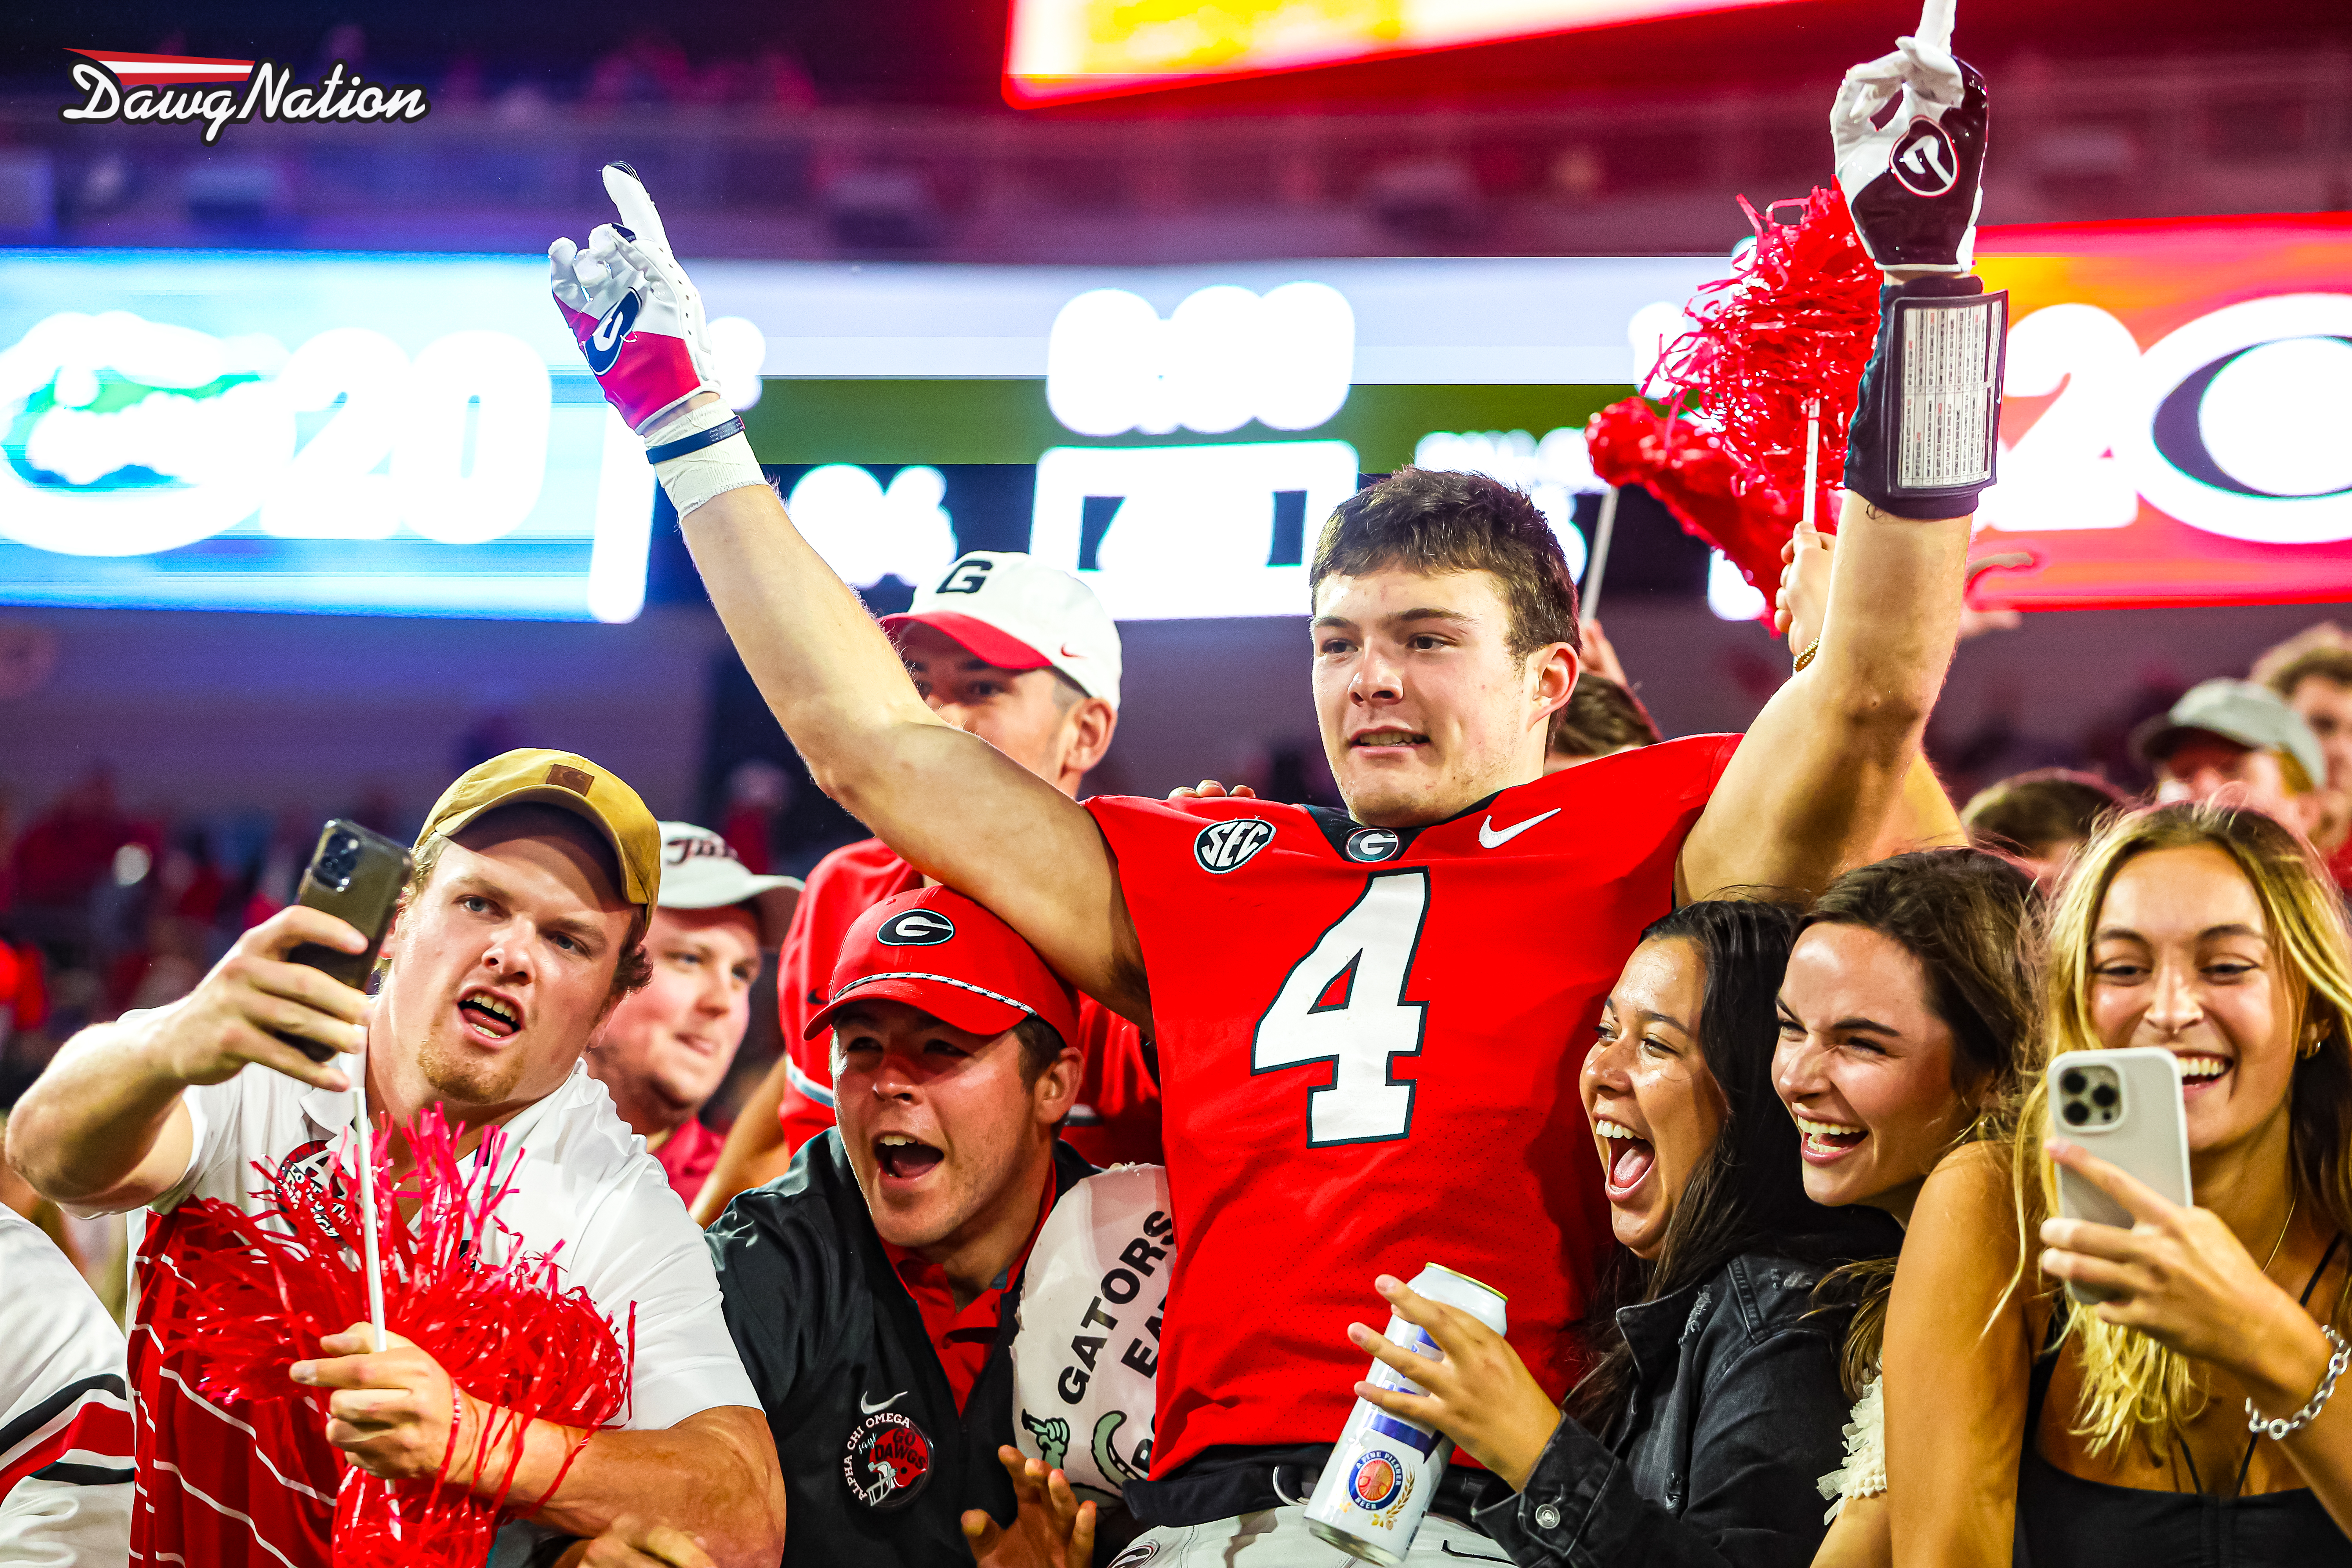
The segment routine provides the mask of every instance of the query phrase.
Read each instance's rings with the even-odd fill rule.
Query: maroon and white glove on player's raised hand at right
[[[1893,118],[1872,120],[1900,92]],[[1952,59],[1952,0],[1926,0],[1919,33],[1856,66],[1830,108],[1837,183],[1882,268],[1966,273],[1985,202],[1985,78]]]

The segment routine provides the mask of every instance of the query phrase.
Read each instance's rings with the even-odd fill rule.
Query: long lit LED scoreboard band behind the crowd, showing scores
[[[2352,597],[2352,219],[2002,230],[2018,609]],[[1296,616],[1367,473],[1526,487],[1722,256],[691,261],[722,390],[854,585],[1030,550],[1138,618]],[[1585,503],[1590,515],[1590,501]],[[630,621],[656,487],[529,256],[0,252],[0,602]],[[1729,567],[1717,614],[1762,597]]]

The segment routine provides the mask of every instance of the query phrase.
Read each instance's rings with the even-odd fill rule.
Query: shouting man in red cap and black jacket
[[[1054,1133],[1084,1070],[1077,997],[948,889],[858,917],[826,994],[804,1027],[830,1037],[840,1121],[708,1232],[783,1465],[783,1563],[967,1561],[967,1519],[985,1537],[978,1512],[1016,1516],[997,1450],[1030,1248],[1094,1173]],[[1098,1331],[1098,1371],[1150,1363],[1141,1312],[1096,1316],[1134,1319]]]

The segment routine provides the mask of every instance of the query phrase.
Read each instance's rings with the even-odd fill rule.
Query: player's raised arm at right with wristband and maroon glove
[[[1846,437],[1828,623],[1691,830],[1684,898],[1740,884],[1811,893],[1870,858],[1952,661],[1969,520],[1992,484],[2006,296],[1966,275],[1985,82],[1952,59],[1950,31],[1950,2],[1929,0],[1919,35],[1849,71],[1830,113],[1837,181],[1884,289]],[[1896,94],[1898,113],[1877,125]]]

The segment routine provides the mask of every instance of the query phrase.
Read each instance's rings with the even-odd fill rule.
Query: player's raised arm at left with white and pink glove
[[[703,308],[637,174],[621,226],[548,252],[607,400],[647,437],[710,602],[816,785],[917,870],[978,898],[1103,1004],[1145,1023],[1143,964],[1094,818],[943,724],[858,597],[800,536],[713,393]]]

